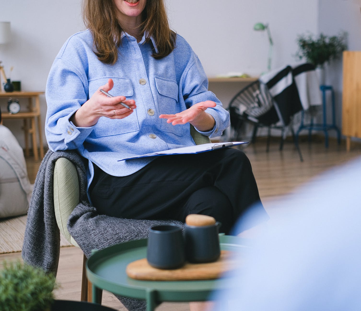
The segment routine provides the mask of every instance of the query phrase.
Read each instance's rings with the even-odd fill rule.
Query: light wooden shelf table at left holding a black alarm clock
[[[44,147],[42,139],[42,125],[41,125],[41,115],[40,115],[40,102],[39,95],[44,94],[44,92],[0,92],[0,98],[9,99],[19,99],[21,105],[21,110],[17,114],[9,114],[7,112],[1,113],[1,118],[6,119],[24,119],[24,132],[25,132],[25,155],[29,156],[29,134],[32,137],[32,149],[34,152],[35,161],[39,160],[38,145],[36,139],[36,123],[38,125],[39,133],[39,149],[40,149],[40,158],[44,157]],[[28,105],[26,107],[25,102],[22,101],[22,98],[27,98]],[[28,127],[28,119],[30,119],[30,128]]]

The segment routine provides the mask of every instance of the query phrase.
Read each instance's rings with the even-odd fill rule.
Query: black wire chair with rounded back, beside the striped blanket
[[[271,129],[280,129],[281,142],[279,149],[283,149],[288,128],[291,129],[300,160],[303,161],[295,133],[291,125],[284,125],[277,113],[277,103],[272,98],[267,86],[259,80],[252,82],[240,90],[230,101],[228,111],[231,119],[232,134],[230,140],[237,140],[242,135],[244,123],[253,124],[251,142],[256,141],[257,130],[260,127],[268,128],[266,151],[269,151]]]

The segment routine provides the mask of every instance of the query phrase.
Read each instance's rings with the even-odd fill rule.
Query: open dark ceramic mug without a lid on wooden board
[[[185,250],[182,228],[174,225],[149,229],[147,260],[158,269],[175,269],[184,264]]]

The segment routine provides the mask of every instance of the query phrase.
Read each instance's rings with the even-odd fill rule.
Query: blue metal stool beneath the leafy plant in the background
[[[322,110],[323,110],[323,122],[322,123],[313,123],[313,117],[309,124],[304,124],[304,115],[305,112],[301,111],[301,124],[296,133],[296,141],[298,142],[298,135],[301,130],[308,130],[308,141],[311,141],[311,132],[312,130],[322,130],[325,132],[325,147],[329,147],[329,133],[328,130],[334,129],[337,132],[337,142],[340,145],[341,143],[341,133],[338,127],[336,126],[336,116],[335,116],[335,92],[331,85],[321,85],[320,90],[322,92]],[[326,113],[326,91],[331,91],[331,109],[332,109],[332,123],[327,124],[327,113]]]

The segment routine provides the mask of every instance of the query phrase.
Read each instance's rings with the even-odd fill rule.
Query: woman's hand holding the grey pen
[[[95,125],[99,118],[104,116],[109,119],[123,119],[129,116],[136,108],[133,99],[125,96],[108,97],[100,92],[100,89],[109,92],[114,86],[113,80],[99,87],[99,89],[70,117],[70,121],[77,127],[90,127]],[[123,107],[120,103],[127,104],[131,110]]]

